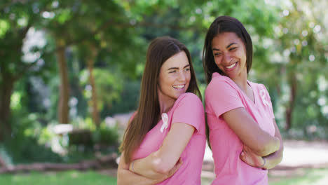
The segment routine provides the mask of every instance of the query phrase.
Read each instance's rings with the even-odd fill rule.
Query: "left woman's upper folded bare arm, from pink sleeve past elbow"
[[[163,141],[158,151],[151,153],[146,158],[134,161],[133,169],[130,164],[130,170],[144,177],[159,178],[167,174],[175,167],[184,148],[189,143],[195,128],[186,123],[174,123],[168,135]]]

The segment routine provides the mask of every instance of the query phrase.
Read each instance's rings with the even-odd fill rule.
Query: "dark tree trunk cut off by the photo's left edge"
[[[3,79],[0,88],[0,142],[4,140],[5,135],[11,135],[11,94],[15,81],[10,76],[1,74]]]

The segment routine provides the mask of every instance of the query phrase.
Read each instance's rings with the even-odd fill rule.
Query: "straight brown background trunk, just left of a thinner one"
[[[62,39],[56,40],[56,56],[60,71],[60,98],[58,102],[58,122],[69,123],[69,78],[65,57],[65,43]]]

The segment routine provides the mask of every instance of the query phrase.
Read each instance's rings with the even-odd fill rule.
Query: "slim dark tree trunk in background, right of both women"
[[[289,79],[289,85],[290,85],[290,97],[289,97],[290,99],[289,99],[289,105],[286,109],[286,126],[285,126],[286,130],[292,128],[292,114],[294,111],[296,91],[297,91],[297,82],[296,82],[295,74],[291,74]]]

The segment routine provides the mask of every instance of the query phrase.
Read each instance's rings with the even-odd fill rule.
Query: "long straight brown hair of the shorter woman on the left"
[[[157,85],[160,67],[166,60],[180,52],[186,53],[190,65],[191,79],[186,92],[195,93],[201,99],[191,62],[191,55],[186,46],[169,36],[161,36],[151,41],[146,55],[137,114],[125,130],[123,143],[120,146],[120,151],[124,151],[125,163],[131,162],[133,152],[139,147],[146,133],[158,123],[160,105],[158,102]]]

